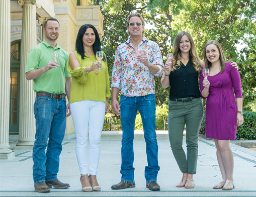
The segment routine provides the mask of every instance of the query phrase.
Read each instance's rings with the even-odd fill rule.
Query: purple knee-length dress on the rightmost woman
[[[201,71],[201,96],[204,89],[203,80],[204,76]],[[239,72],[228,62],[223,73],[219,72],[214,76],[208,76],[208,80],[210,87],[205,111],[206,137],[218,140],[235,140],[237,116],[235,97],[242,98]],[[202,98],[206,99],[204,96]]]

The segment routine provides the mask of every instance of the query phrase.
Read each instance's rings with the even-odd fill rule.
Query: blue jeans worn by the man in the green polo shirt
[[[66,99],[37,95],[34,114],[36,135],[33,147],[33,179],[38,183],[57,178],[61,143],[66,129]]]

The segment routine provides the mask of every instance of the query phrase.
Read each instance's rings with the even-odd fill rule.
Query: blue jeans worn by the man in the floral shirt
[[[137,111],[139,111],[146,141],[146,154],[148,166],[145,167],[146,181],[156,181],[158,166],[158,146],[155,133],[155,95],[128,97],[121,95],[121,125],[123,129],[122,139],[122,165],[120,173],[122,180],[134,181],[134,153],[133,139]]]

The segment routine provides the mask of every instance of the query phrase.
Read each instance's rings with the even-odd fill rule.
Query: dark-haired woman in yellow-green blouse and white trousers
[[[100,159],[101,132],[104,117],[109,112],[111,97],[107,59],[96,59],[101,41],[96,28],[85,24],[78,31],[75,51],[69,54],[68,72],[72,75],[70,111],[76,134],[76,158],[83,191],[100,191],[97,172]],[[102,68],[103,70],[97,70]],[[87,143],[90,141],[90,175],[87,163]]]

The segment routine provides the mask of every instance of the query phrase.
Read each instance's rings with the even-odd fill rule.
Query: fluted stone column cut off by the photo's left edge
[[[9,145],[10,108],[10,51],[11,10],[10,1],[0,1],[0,158],[10,158],[15,153]]]

